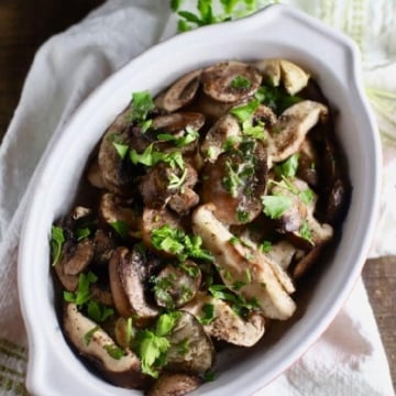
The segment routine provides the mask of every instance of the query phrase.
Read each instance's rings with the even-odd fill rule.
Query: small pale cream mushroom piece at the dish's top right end
[[[265,81],[277,87],[283,82],[289,95],[304,89],[310,75],[301,67],[286,59],[267,58],[253,64],[263,75]]]

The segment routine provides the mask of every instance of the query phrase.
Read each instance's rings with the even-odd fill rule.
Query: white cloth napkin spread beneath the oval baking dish
[[[355,4],[356,1],[289,2],[351,33],[348,24],[340,25],[337,15],[348,11],[345,3]],[[195,2],[189,3],[191,7]],[[384,201],[377,232],[382,238],[374,241],[372,255],[396,254],[393,243],[396,237],[393,227],[396,218],[396,151],[393,148],[396,127],[395,118],[392,119],[396,112],[389,112],[394,103],[388,92],[389,87],[396,92],[396,73],[393,73],[396,63],[389,63],[389,54],[396,51],[389,48],[395,43],[386,36],[394,29],[385,18],[389,3],[394,1],[375,1],[383,11],[383,19],[380,11],[375,11],[382,46],[375,47],[376,56],[366,52],[371,67],[366,74],[372,88],[370,95],[378,109],[380,125],[387,135],[384,140]],[[353,18],[352,11],[349,12]],[[15,270],[29,183],[37,162],[45,150],[51,150],[74,110],[95,87],[122,64],[175,33],[175,16],[169,16],[168,1],[109,0],[79,24],[52,37],[34,58],[0,146],[0,395],[25,394],[28,343],[19,309]],[[337,23],[332,23],[334,21]],[[371,31],[359,44],[372,41]],[[67,395],[67,391],[59,391],[59,394]],[[287,372],[255,395],[394,395],[384,349],[361,280],[321,339]]]

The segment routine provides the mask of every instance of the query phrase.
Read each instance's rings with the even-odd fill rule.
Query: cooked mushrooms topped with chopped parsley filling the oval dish
[[[287,320],[350,185],[320,88],[286,59],[223,62],[133,92],[52,229],[63,330],[114,385],[184,395],[224,344]]]

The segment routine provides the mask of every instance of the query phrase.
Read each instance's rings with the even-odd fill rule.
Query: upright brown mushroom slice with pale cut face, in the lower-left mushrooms
[[[145,261],[138,249],[130,252],[127,248],[118,248],[109,263],[109,277],[114,305],[122,317],[133,316],[145,322],[158,315],[158,310],[146,300]]]

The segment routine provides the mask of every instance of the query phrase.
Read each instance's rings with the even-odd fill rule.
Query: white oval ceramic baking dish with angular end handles
[[[338,110],[336,131],[353,187],[342,238],[304,312],[276,340],[219,358],[219,377],[191,395],[250,395],[293,364],[326,330],[352,290],[373,234],[380,194],[380,141],[360,82],[353,43],[311,18],[273,6],[240,21],[180,34],[151,48],[105,81],[44,155],[25,215],[19,290],[29,334],[28,388],[35,395],[141,395],[88,371],[63,336],[54,304],[50,234],[72,206],[85,164],[131,92],[156,95],[177,77],[220,61],[287,58],[309,70]],[[297,302],[298,304],[298,302]],[[264,337],[265,339],[265,337]]]

